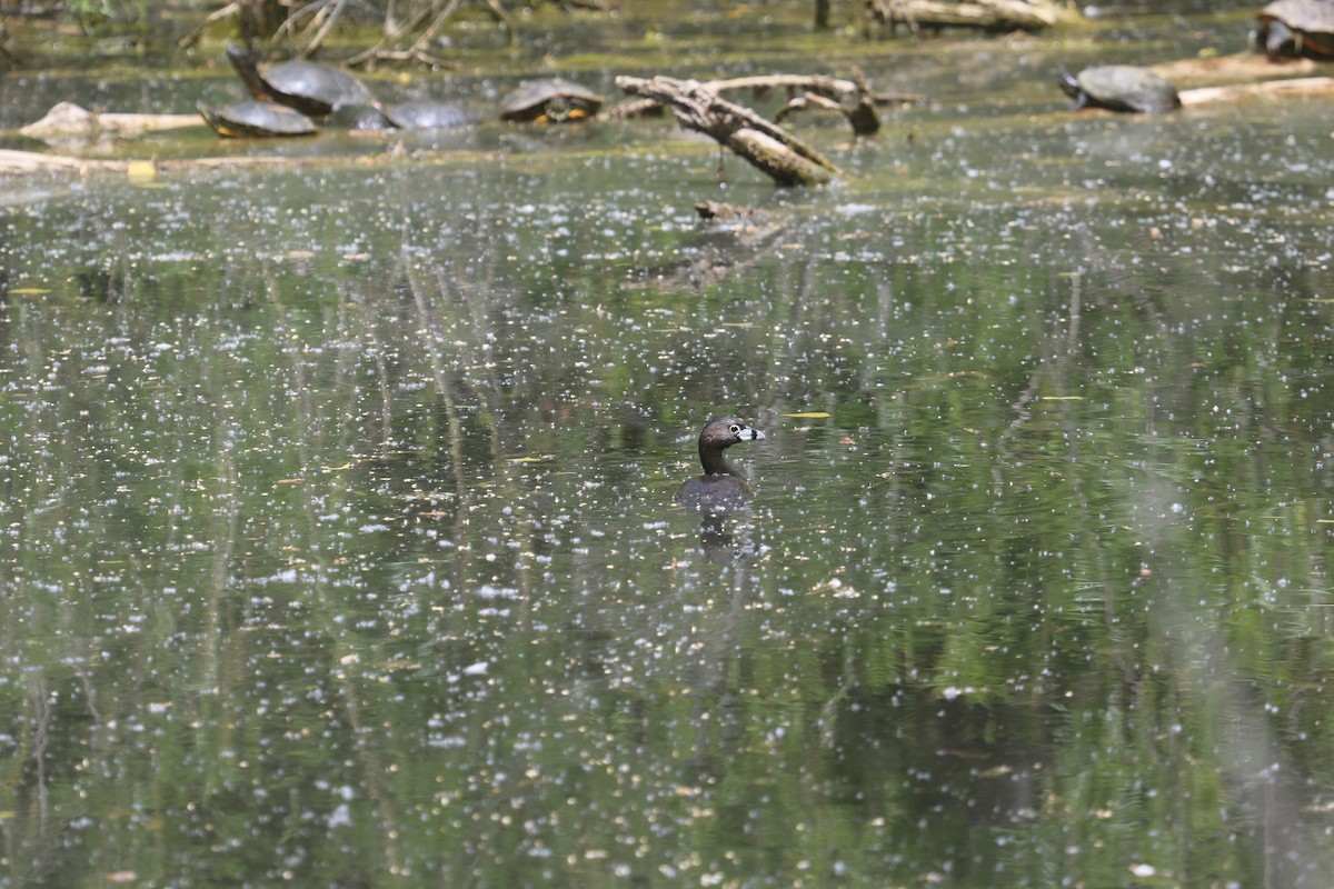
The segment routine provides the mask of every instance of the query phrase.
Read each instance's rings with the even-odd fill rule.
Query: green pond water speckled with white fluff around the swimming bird
[[[4,180],[0,885],[1326,889],[1334,100],[1070,113],[1246,28],[1099,21],[720,43],[936,99],[799,120],[824,188],[670,120]]]

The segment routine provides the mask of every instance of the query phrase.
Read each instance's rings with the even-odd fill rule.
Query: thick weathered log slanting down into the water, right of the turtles
[[[832,161],[778,124],[722,99],[696,80],[622,76],[616,85],[668,105],[683,127],[740,155],[779,185],[816,185],[842,175]]]

